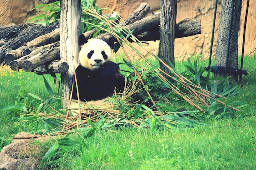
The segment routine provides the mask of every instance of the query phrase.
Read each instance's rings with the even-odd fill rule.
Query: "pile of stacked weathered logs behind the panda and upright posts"
[[[133,35],[140,41],[159,40],[160,13],[148,15],[149,5],[142,3],[120,26],[134,30]],[[147,16],[146,16],[147,15]],[[86,38],[97,30],[88,31]],[[200,19],[185,19],[176,24],[175,38],[201,33]],[[110,33],[97,38],[108,41]],[[7,64],[12,70],[33,71],[38,74],[65,73],[68,64],[61,61],[59,23],[49,26],[19,24],[0,28],[0,64]],[[114,38],[115,40],[115,38]],[[132,42],[132,40],[130,40]]]

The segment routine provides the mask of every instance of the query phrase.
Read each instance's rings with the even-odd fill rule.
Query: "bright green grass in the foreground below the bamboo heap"
[[[212,126],[157,133],[98,130],[82,146],[58,150],[56,157],[65,155],[69,165],[62,166],[62,159],[52,162],[60,169],[88,170],[256,169],[255,117],[208,123]]]

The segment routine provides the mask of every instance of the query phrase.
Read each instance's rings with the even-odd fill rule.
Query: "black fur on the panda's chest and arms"
[[[95,71],[79,65],[76,68],[76,79],[80,100],[84,102],[112,96],[115,87],[119,91],[124,90],[125,79],[119,74],[119,66],[111,61],[105,62]],[[72,99],[78,99],[75,79]]]

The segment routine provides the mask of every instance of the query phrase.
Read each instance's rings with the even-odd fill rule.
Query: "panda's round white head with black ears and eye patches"
[[[79,64],[91,71],[97,70],[105,62],[112,60],[110,48],[112,44],[109,45],[99,39],[87,40],[83,34],[79,36],[78,44],[81,46]]]

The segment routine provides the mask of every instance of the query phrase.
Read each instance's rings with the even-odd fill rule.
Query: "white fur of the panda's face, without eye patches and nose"
[[[94,51],[92,57],[88,58],[88,53],[90,51]],[[103,58],[103,55],[101,52],[104,51],[106,55],[108,55],[108,58],[105,60]],[[101,62],[97,63],[95,60],[102,60]],[[110,49],[110,46],[104,42],[103,40],[99,39],[90,39],[86,44],[83,44],[81,46],[81,51],[79,53],[79,63],[90,70],[94,70],[99,68],[100,65],[102,65],[106,61],[112,60],[112,51]]]

